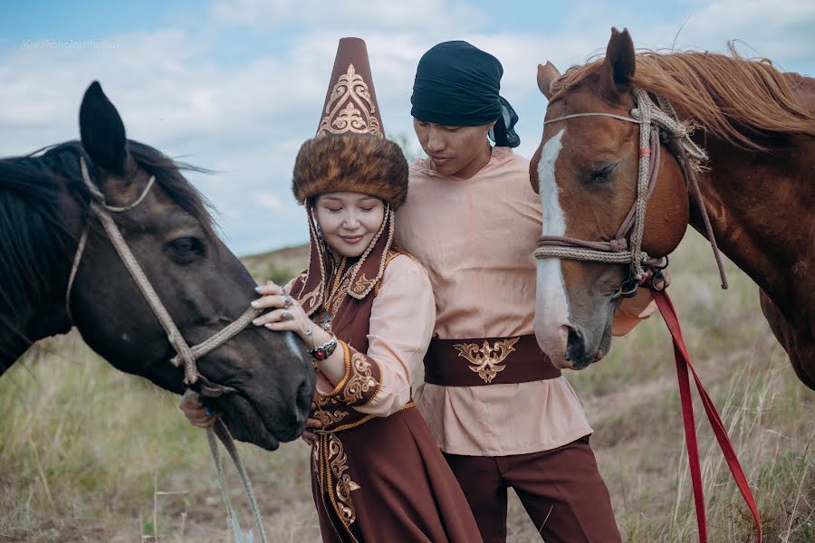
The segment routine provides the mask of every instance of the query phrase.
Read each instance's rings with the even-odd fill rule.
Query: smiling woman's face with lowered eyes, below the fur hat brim
[[[340,257],[361,256],[385,220],[382,201],[360,193],[326,193],[314,206],[323,239]]]

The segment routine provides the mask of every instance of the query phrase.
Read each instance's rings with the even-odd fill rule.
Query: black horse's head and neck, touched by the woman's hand
[[[201,196],[181,174],[185,166],[126,139],[99,83],[82,100],[80,132],[81,142],[0,160],[0,375],[34,341],[73,324],[113,366],[182,393],[183,370],[169,363],[176,352],[167,334],[90,213],[81,158],[109,205],[132,203],[155,176],[143,202],[115,219],[190,345],[243,314],[255,283],[218,239]],[[69,312],[68,279],[86,225]],[[273,450],[302,433],[314,376],[292,334],[250,326],[197,367],[211,383],[235,389],[211,400],[235,438]]]

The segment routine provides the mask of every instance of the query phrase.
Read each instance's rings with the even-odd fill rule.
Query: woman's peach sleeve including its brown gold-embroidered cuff
[[[410,399],[436,323],[436,301],[427,272],[407,255],[388,263],[370,311],[368,352],[344,341],[345,376],[326,396],[360,413],[388,416]],[[324,385],[324,384],[323,384]]]

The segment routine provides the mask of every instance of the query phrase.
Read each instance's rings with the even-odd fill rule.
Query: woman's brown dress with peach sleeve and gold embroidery
[[[427,272],[390,249],[388,212],[360,261],[321,262],[292,282],[312,319],[339,339],[345,376],[318,371],[324,428],[312,491],[324,541],[481,541],[464,493],[411,399],[436,310]],[[389,234],[389,235],[388,235]],[[313,243],[316,244],[316,243]]]

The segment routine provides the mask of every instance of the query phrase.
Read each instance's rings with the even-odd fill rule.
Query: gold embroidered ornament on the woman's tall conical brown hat
[[[372,134],[384,138],[379,128],[379,119],[374,117],[376,104],[370,97],[368,83],[348,65],[348,71],[340,75],[334,90],[325,105],[325,117],[320,121],[317,138],[328,134]]]

